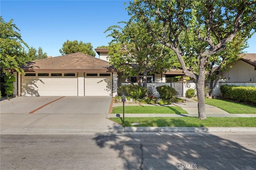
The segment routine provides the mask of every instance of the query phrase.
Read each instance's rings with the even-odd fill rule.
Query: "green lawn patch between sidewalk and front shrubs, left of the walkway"
[[[112,113],[123,113],[123,106],[114,107]],[[187,111],[175,106],[124,106],[124,113],[187,114]]]

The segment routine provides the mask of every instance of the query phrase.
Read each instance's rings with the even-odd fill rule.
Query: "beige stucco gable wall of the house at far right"
[[[256,82],[254,66],[241,60],[233,64],[232,68],[224,72],[222,76],[226,78],[227,82]]]

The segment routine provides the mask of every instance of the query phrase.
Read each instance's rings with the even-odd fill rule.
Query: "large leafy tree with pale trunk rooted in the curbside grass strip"
[[[148,33],[172,49],[186,76],[196,80],[198,118],[206,119],[204,101],[205,67],[210,57],[226,48],[240,33],[250,37],[256,28],[254,0],[134,0],[127,8],[132,20],[143,22]],[[196,37],[197,45],[184,45],[180,37]],[[194,49],[193,49],[194,48]],[[190,53],[193,51],[194,53]],[[196,56],[197,70],[189,70],[185,59]]]

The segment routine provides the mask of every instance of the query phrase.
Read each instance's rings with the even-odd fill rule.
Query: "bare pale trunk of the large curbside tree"
[[[199,75],[196,83],[196,91],[197,91],[197,99],[198,99],[198,118],[206,119],[205,114],[205,101],[204,101],[204,80],[205,80],[205,69],[204,64],[206,62],[206,58],[202,57],[199,63]]]

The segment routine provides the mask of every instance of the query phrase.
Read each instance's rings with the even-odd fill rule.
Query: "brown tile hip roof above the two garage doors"
[[[86,70],[111,72],[112,66],[108,61],[104,61],[83,53],[72,53],[48,59],[28,62],[23,69],[34,70]]]

